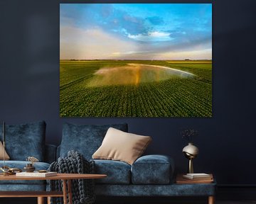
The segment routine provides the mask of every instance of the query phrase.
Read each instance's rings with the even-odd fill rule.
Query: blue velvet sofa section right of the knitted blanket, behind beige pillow
[[[85,159],[100,147],[108,128],[127,132],[127,124],[75,125],[63,124],[63,137],[57,149],[58,157],[65,157],[74,149]],[[166,155],[142,156],[134,164],[112,160],[94,160],[97,174],[107,174],[106,179],[96,179],[97,196],[214,196],[215,183],[176,184],[174,161]],[[209,201],[209,203],[212,201]]]

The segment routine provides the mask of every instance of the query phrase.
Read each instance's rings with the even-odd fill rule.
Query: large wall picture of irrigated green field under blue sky
[[[60,4],[60,117],[212,115],[212,4]]]

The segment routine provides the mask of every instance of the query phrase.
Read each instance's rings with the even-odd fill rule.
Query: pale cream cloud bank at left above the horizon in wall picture
[[[60,28],[60,59],[113,59],[137,49],[136,44],[115,38],[100,28]]]

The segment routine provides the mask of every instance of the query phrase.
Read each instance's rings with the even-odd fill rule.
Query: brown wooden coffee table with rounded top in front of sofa
[[[22,198],[22,197],[37,197],[38,204],[44,203],[44,198],[63,197],[64,204],[72,204],[72,182],[73,179],[102,179],[105,174],[57,174],[50,177],[18,177],[15,175],[0,176],[3,181],[17,180],[62,180],[63,191],[0,191],[0,198]],[[68,185],[66,184],[68,183]],[[68,198],[67,198],[68,194]],[[69,201],[69,202],[68,202]],[[49,202],[48,202],[49,203]]]

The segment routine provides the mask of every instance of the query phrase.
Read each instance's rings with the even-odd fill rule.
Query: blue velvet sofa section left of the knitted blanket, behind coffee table
[[[0,125],[0,130],[2,130]],[[6,152],[10,160],[5,162],[10,168],[23,169],[26,158],[33,156],[39,159],[34,163],[36,170],[48,169],[55,160],[55,145],[46,145],[46,123],[38,121],[22,125],[6,125]],[[0,131],[0,138],[3,135]],[[4,161],[0,161],[0,166]],[[0,181],[0,191],[46,191],[46,181]]]

